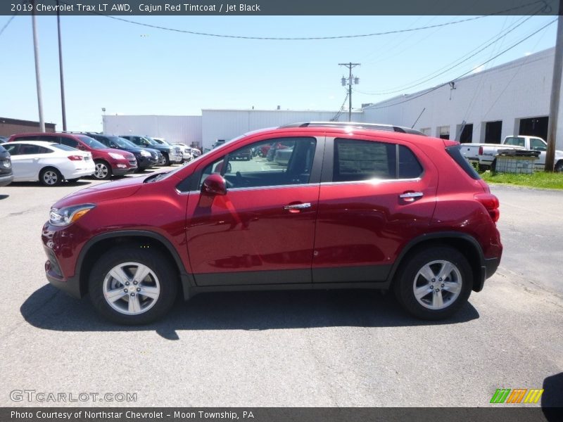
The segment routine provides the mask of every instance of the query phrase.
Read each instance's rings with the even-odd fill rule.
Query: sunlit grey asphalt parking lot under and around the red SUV
[[[201,294],[123,327],[44,276],[49,208],[97,183],[0,188],[1,406],[486,407],[497,388],[563,405],[561,191],[493,186],[500,269],[448,321],[412,319],[377,291],[287,291]],[[15,402],[14,390],[110,396]],[[121,393],[134,401],[109,399]]]

